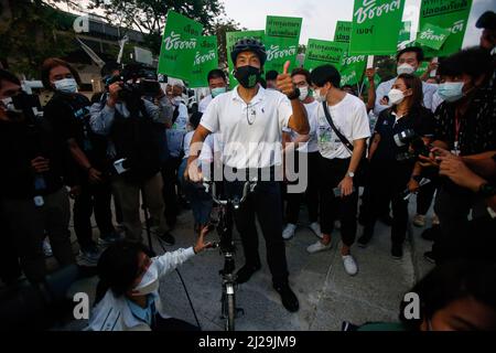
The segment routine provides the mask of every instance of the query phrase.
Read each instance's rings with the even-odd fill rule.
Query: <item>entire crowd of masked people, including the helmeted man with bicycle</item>
[[[230,54],[239,85],[228,90],[226,73],[212,71],[206,77],[211,95],[194,111],[182,100],[183,87],[162,90],[154,71],[139,64],[122,68],[107,63],[101,71],[106,89],[89,100],[78,93],[77,71],[61,58],[47,58],[41,77],[53,96],[43,109],[15,75],[0,69],[2,281],[14,284],[22,272],[50,295],[47,238],[61,267],[76,260],[97,267],[93,330],[195,330],[163,312],[159,279],[211,246],[204,236],[215,225],[216,207],[202,182],[218,170],[227,196],[239,196],[246,178],[257,179],[255,191],[234,213],[245,257],[237,282],[249,281],[261,268],[258,220],[273,288],[290,312],[300,303],[289,285],[284,242],[298,233],[303,203],[317,237],[308,253],[331,249],[338,228],[349,276],[359,271],[352,254],[356,239],[360,247],[373,242],[378,220],[391,226],[391,256],[402,258],[408,200],[414,193],[412,221],[419,227],[427,225],[435,196],[432,227],[424,232],[434,243],[425,259],[442,266],[441,275],[450,274],[453,260],[494,268],[495,17],[489,12],[477,23],[485,29],[481,46],[440,58],[439,67],[430,66],[436,68],[432,77],[414,74],[424,61],[416,46],[398,53],[397,76],[377,89],[375,69],[367,68],[366,100],[353,87],[341,86],[332,65],[289,72],[287,64],[263,79],[267,53],[254,39],[238,41]],[[298,185],[303,190],[295,192]],[[193,212],[197,243],[154,257],[142,245],[141,205],[150,214],[151,232],[172,246],[183,199]],[[490,309],[484,328],[496,328],[494,300],[475,292],[484,286],[494,292],[494,272],[477,277],[454,268],[473,286],[464,287],[462,278],[448,284],[451,278],[433,274],[419,291],[435,304],[446,303],[435,310],[456,300],[479,300]],[[446,292],[435,296],[450,296],[454,286],[451,299],[429,292],[435,280],[446,282]],[[425,311],[417,328],[442,327],[436,320],[434,311]]]

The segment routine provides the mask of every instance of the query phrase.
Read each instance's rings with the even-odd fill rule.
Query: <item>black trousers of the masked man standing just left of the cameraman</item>
[[[94,246],[91,214],[100,231],[100,237],[114,233],[112,212],[110,208],[112,191],[110,182],[90,184],[83,179],[80,195],[74,202],[74,231],[83,250]]]

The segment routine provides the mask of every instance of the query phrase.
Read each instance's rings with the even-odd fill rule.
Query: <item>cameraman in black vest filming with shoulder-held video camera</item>
[[[114,160],[111,184],[122,208],[126,237],[141,242],[140,191],[150,210],[159,236],[168,244],[175,243],[166,231],[163,215],[161,139],[157,125],[170,126],[172,107],[159,83],[147,79],[143,66],[129,64],[121,77],[109,82],[107,100],[90,107],[91,130],[108,139],[107,153]],[[158,104],[144,96],[155,94]]]

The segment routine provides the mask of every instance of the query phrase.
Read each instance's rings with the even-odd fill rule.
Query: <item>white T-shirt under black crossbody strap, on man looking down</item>
[[[358,97],[346,94],[342,101],[328,107],[333,122],[349,142],[370,137],[367,108]],[[325,118],[324,108],[319,104],[319,151],[327,159],[347,159],[352,152],[339,140]]]

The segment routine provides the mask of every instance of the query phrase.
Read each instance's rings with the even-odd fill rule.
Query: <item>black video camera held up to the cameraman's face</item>
[[[160,83],[155,71],[142,64],[128,64],[120,75],[109,77],[105,82],[106,88],[116,82],[122,82],[119,99],[134,103],[141,97],[157,97],[160,94]]]

